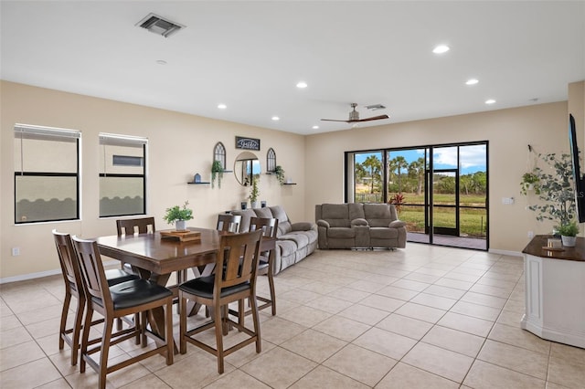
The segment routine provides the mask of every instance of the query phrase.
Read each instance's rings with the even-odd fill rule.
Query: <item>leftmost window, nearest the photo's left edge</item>
[[[16,124],[16,224],[80,218],[80,138],[80,131]]]

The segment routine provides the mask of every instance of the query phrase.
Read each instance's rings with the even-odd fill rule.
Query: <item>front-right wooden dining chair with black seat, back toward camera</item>
[[[261,231],[221,236],[218,247],[218,268],[214,275],[191,279],[179,286],[180,300],[180,352],[186,353],[186,342],[210,352],[218,358],[218,373],[224,371],[224,357],[242,347],[256,342],[256,352],[261,352],[260,318],[256,306],[256,278],[260,258]],[[243,323],[229,319],[228,304],[239,301],[240,311],[243,301],[250,300],[254,331]],[[186,303],[196,303],[213,307],[212,320],[191,330],[186,326]],[[248,335],[244,340],[224,350],[224,329],[233,326]],[[216,348],[197,340],[194,335],[208,329],[215,329]]]

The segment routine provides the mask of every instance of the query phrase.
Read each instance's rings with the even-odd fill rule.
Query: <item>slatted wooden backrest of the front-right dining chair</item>
[[[221,236],[217,267],[224,268],[224,271],[216,271],[214,294],[225,288],[255,281],[261,236],[261,230]]]

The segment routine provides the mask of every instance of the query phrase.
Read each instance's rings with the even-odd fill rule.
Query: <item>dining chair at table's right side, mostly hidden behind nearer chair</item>
[[[276,238],[278,232],[278,219],[275,217],[251,217],[250,218],[250,231],[262,231],[262,237]],[[276,248],[274,248],[276,249]],[[261,253],[260,262],[258,265],[258,274],[268,276],[268,286],[271,291],[271,298],[256,296],[258,300],[261,300],[263,304],[258,307],[258,310],[271,307],[272,316],[276,315],[276,291],[274,289],[274,256],[273,250]],[[251,310],[244,312],[245,315],[249,315]]]

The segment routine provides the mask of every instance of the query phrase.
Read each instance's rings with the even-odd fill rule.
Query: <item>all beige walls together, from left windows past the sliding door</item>
[[[155,216],[158,229],[170,227],[162,219],[165,208],[185,200],[195,210],[192,226],[212,227],[218,213],[239,207],[248,190],[230,173],[221,189],[186,184],[194,173],[209,179],[216,142],[224,143],[229,164],[233,163],[239,153],[234,148],[236,135],[261,139],[257,155],[263,167],[266,151],[270,147],[276,151],[277,163],[297,185],[279,186],[274,176],[263,174],[261,199],[269,205],[284,205],[293,221],[313,220],[315,204],[344,201],[346,151],[489,141],[490,248],[519,252],[527,244],[528,231],[544,234],[551,229],[550,224],[538,223],[535,214],[526,209],[535,199],[519,193],[520,177],[527,168],[527,145],[537,152],[569,152],[569,108],[579,114],[578,131],[585,131],[584,85],[570,84],[569,103],[301,136],[2,81],[0,279],[57,269],[50,236],[53,228],[83,237],[114,233],[113,219],[98,217],[99,132],[149,139],[148,213]],[[82,221],[14,225],[12,145],[16,122],[82,131]],[[502,197],[510,196],[516,199],[515,204],[503,205]],[[21,255],[12,257],[12,247],[20,247]]]

